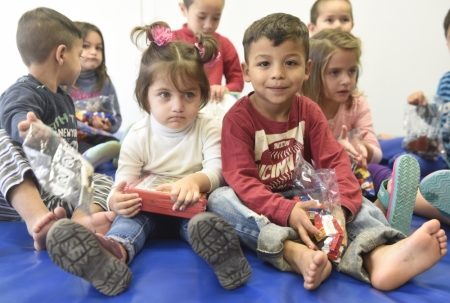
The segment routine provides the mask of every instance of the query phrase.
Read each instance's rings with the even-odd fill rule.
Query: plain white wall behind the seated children
[[[123,126],[136,121],[140,110],[133,96],[140,52],[130,42],[136,25],[162,19],[173,29],[184,23],[181,0],[22,0],[0,3],[2,47],[0,91],[27,72],[15,44],[17,20],[26,10],[47,6],[72,20],[88,21],[103,32],[106,59],[124,117]],[[226,0],[218,32],[228,37],[243,59],[242,35],[253,21],[274,12],[297,15],[305,23],[314,0]],[[443,19],[448,0],[352,0],[353,33],[363,42],[359,89],[372,107],[377,133],[404,133],[402,120],[406,96],[417,89],[436,92],[439,78],[450,70]],[[244,92],[251,91],[246,84]]]

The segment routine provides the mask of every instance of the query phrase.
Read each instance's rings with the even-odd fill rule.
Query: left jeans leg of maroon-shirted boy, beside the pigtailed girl
[[[283,258],[286,240],[301,242],[290,227],[271,223],[245,206],[228,186],[216,189],[208,198],[208,210],[223,217],[235,229],[240,242],[255,251],[258,258],[282,271],[292,271]]]

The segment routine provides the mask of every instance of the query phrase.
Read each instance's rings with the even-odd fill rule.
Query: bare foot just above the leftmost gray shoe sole
[[[98,204],[92,204],[91,215],[88,215],[81,208],[77,208],[72,215],[72,220],[102,235],[108,232],[115,218],[114,212],[104,211]]]

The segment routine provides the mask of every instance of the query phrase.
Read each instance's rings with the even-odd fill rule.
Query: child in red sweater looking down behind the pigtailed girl
[[[244,79],[236,48],[230,40],[216,33],[219,27],[225,0],[183,0],[180,2],[181,12],[187,18],[183,28],[173,32],[174,40],[186,40],[198,43],[197,34],[203,33],[216,38],[220,57],[214,66],[206,66],[211,85],[210,100],[222,101],[226,92],[241,92]],[[222,77],[225,76],[225,85]]]

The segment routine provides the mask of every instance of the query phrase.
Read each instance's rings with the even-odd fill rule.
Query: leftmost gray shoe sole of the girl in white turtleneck
[[[47,234],[47,251],[57,266],[85,279],[102,294],[120,294],[131,282],[128,266],[106,250],[89,229],[72,220],[53,224]]]

